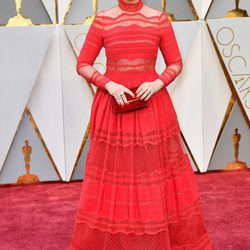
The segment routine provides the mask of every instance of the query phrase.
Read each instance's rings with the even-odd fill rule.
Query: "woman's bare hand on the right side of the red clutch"
[[[135,94],[136,97],[143,100],[148,100],[153,94],[157,93],[160,89],[162,89],[164,83],[160,79],[156,79],[153,82],[144,82],[142,83],[138,89],[136,90]]]

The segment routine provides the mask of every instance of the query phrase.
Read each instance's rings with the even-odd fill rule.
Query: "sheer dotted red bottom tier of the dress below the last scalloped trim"
[[[85,237],[83,237],[85,236]],[[87,237],[86,237],[87,236]],[[178,237],[177,235],[175,237]],[[167,231],[153,235],[137,234],[111,234],[103,232],[82,223],[75,226],[75,238],[70,250],[96,249],[96,250],[211,250],[212,246],[207,233],[201,237],[190,240],[188,243],[171,244]]]

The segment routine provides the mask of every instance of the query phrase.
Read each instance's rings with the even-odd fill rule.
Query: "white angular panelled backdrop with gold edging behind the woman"
[[[0,27],[2,184],[15,183],[25,172],[23,138],[33,147],[31,172],[42,181],[70,181],[81,179],[84,174],[88,123],[96,89],[77,75],[76,60],[89,26],[64,24],[67,17],[80,15],[73,10],[82,1],[61,0],[57,8],[54,1],[42,2],[50,25]],[[229,127],[237,126],[242,134],[241,160],[249,162],[250,153],[250,19],[204,19],[215,3],[194,0],[199,19],[172,23],[184,68],[168,90],[193,168],[200,172],[223,169],[233,160],[234,131]],[[169,5],[173,13],[175,5],[173,2]],[[176,1],[176,5],[180,6],[180,2]],[[187,4],[183,6],[186,8]],[[190,9],[186,12],[189,15]],[[226,46],[227,41],[230,43]],[[102,49],[95,62],[101,73],[105,72],[105,62]],[[165,66],[159,51],[157,72],[161,73]],[[235,99],[233,109],[229,109]],[[44,160],[38,155],[43,155]],[[49,174],[43,175],[44,171]]]

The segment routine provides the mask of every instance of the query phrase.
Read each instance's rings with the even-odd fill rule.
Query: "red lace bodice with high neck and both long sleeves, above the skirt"
[[[107,56],[105,74],[93,67],[102,47]],[[128,71],[156,74],[158,48],[166,63],[158,78],[167,86],[183,67],[170,20],[166,13],[143,4],[142,0],[136,4],[119,1],[96,15],[80,51],[77,72],[99,88],[113,80],[109,79],[110,74]]]

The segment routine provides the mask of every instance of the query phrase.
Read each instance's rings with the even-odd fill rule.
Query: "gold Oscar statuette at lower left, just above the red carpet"
[[[32,147],[29,145],[28,140],[25,140],[25,146],[23,146],[22,152],[24,155],[26,174],[19,176],[17,183],[18,184],[28,184],[28,183],[40,182],[37,175],[33,175],[30,173],[30,155],[32,153]]]

